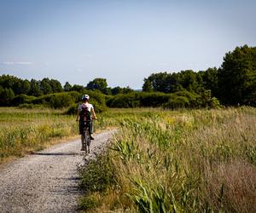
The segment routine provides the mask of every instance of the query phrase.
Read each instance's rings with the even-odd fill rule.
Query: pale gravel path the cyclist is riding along
[[[95,135],[94,158],[113,131]],[[81,192],[77,165],[83,164],[80,141],[68,141],[28,155],[0,169],[0,212],[76,212]]]

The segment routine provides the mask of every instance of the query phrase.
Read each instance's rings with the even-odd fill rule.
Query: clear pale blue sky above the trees
[[[253,0],[1,0],[0,74],[141,89],[155,72],[221,66],[256,46]]]

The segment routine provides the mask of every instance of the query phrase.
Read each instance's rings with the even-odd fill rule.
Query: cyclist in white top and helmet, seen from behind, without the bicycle
[[[82,117],[81,112],[83,112],[84,110],[90,112],[90,118],[88,121],[88,124],[90,125],[89,133],[90,133],[90,140],[94,140],[94,138],[92,137],[92,122],[91,121],[92,121],[92,119],[96,119],[96,113],[94,112],[94,107],[89,103],[89,99],[90,99],[89,95],[82,96],[83,103],[81,105],[79,105],[76,121],[79,120],[79,134],[82,135],[83,129],[84,129],[84,121],[81,118]]]

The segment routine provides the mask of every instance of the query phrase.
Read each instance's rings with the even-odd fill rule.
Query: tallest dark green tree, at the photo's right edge
[[[224,104],[256,106],[256,47],[236,47],[224,56],[218,88]]]

